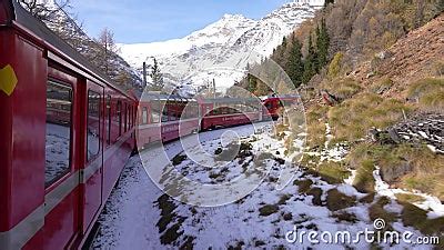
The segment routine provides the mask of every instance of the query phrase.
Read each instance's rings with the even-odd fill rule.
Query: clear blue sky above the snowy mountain
[[[291,0],[72,0],[73,12],[91,37],[108,27],[121,43],[182,38],[224,13],[260,19]]]

